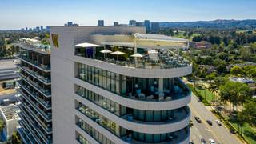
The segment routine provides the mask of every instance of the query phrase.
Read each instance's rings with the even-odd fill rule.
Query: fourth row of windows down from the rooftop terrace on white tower
[[[78,118],[78,117],[77,117]],[[94,127],[90,126],[88,123],[78,118],[78,125],[85,130],[87,134],[90,134],[92,138],[102,144],[114,144],[109,138],[106,138],[103,134],[95,130]]]

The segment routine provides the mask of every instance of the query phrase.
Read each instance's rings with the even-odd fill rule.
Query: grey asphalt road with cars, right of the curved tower
[[[207,143],[209,143],[209,138],[214,139],[216,143],[222,144],[242,144],[242,142],[234,135],[230,134],[230,131],[223,126],[218,126],[215,120],[214,114],[210,110],[206,109],[201,102],[198,102],[198,98],[192,95],[190,102],[191,120],[194,123],[194,126],[191,127],[190,141],[193,141],[195,144],[201,143],[201,138],[204,138]],[[194,116],[199,116],[202,120],[201,123],[198,123]],[[213,126],[210,126],[206,120],[213,122]]]

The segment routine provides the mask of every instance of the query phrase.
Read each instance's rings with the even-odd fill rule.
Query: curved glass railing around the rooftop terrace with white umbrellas
[[[149,54],[142,54],[142,58],[127,58],[128,55],[126,57],[122,57],[122,55],[120,55],[119,57],[122,57],[122,60],[119,60],[118,56],[114,58],[113,54],[111,54],[112,58],[108,58],[107,56],[104,57],[103,54],[97,52],[95,54],[88,55],[85,54],[85,52],[79,52],[79,50],[76,51],[75,55],[84,58],[97,59],[102,62],[108,62],[119,66],[141,69],[172,69],[190,66],[189,61],[185,58],[178,58],[178,56],[174,55],[169,50],[158,50],[154,58],[150,58]]]

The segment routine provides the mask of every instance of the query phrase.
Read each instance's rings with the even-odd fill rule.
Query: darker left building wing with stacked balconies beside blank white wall
[[[52,143],[50,46],[38,39],[21,38],[18,64],[18,133],[24,143]]]

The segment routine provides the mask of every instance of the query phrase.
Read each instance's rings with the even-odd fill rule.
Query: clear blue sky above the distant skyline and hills
[[[0,30],[62,26],[67,21],[94,26],[130,19],[158,22],[256,19],[256,0],[1,0]]]

